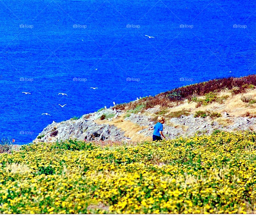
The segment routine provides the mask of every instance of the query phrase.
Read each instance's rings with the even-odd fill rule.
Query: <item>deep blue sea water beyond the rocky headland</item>
[[[0,5],[0,134],[17,144],[31,142],[53,120],[113,101],[255,73],[254,1],[0,0]]]

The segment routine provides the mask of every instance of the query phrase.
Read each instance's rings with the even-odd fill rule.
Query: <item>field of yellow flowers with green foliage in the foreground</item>
[[[0,154],[0,213],[255,213],[256,133]]]

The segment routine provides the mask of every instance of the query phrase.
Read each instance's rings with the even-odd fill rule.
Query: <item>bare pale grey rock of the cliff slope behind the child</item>
[[[147,114],[140,112],[136,114],[131,113],[129,117],[122,119],[122,121],[130,121],[134,125],[144,126],[143,128],[146,127],[136,133],[143,135],[145,140],[150,140],[153,131],[149,130],[149,128],[155,125],[155,121],[149,113],[156,113],[159,110],[159,108],[151,108],[146,111]],[[95,121],[99,120],[103,114],[108,118],[108,121],[105,120],[105,123],[102,124],[100,123],[101,121]],[[124,114],[124,112],[121,110],[109,108],[83,115],[77,120],[70,119],[60,123],[53,122],[43,129],[43,131],[39,133],[39,139],[35,139],[34,141],[55,142],[69,138],[77,138],[77,140],[85,141],[138,141],[133,140],[131,137],[125,137],[125,131],[114,126],[113,120],[118,119],[122,114]],[[193,136],[195,133],[211,134],[216,129],[221,131],[256,129],[256,118],[227,117],[221,119],[222,122],[220,124],[218,123],[219,118],[210,119],[209,116],[206,118],[195,118],[193,115],[182,115],[178,118],[167,119],[164,124],[163,133],[166,138],[173,139],[179,136]],[[226,124],[224,124],[225,122]]]

